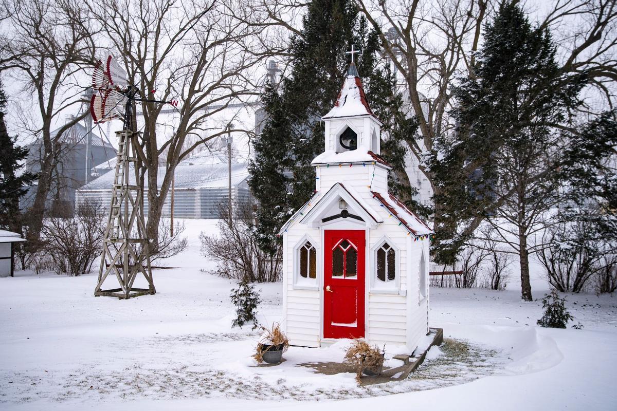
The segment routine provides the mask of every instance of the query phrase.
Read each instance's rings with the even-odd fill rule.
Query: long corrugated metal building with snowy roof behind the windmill
[[[77,191],[77,204],[86,200],[101,200],[109,207],[111,187],[114,181],[112,169],[95,181]],[[159,187],[165,168],[159,171]],[[134,184],[134,173],[129,174]],[[231,164],[231,198],[234,203],[251,203],[252,196],[247,184],[249,169],[247,163]],[[147,181],[147,174],[146,174]],[[175,173],[174,212],[176,218],[218,218],[218,206],[228,197],[228,166],[226,163],[212,163],[212,157],[195,156],[180,162]],[[147,187],[144,190],[144,213],[147,215]],[[171,214],[171,193],[167,195],[163,213]]]

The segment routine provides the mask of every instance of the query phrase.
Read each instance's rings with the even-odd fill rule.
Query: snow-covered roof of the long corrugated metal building
[[[114,184],[115,169],[108,171],[93,182],[80,187],[83,190],[111,190]],[[163,183],[165,167],[159,168],[158,181],[159,187]],[[231,185],[236,187],[242,184],[249,177],[247,163],[235,163],[231,165]],[[131,168],[129,172],[131,184],[135,184],[135,172]],[[147,173],[146,173],[147,181]],[[180,163],[176,167],[174,187],[179,189],[202,189],[218,188],[228,186],[228,169],[226,164],[201,165],[191,163]]]

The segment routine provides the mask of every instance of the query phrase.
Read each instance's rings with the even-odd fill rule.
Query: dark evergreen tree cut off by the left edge
[[[0,227],[22,234],[22,214],[19,199],[27,192],[35,176],[16,172],[28,156],[28,149],[15,145],[17,137],[10,137],[4,123],[6,94],[0,81]]]

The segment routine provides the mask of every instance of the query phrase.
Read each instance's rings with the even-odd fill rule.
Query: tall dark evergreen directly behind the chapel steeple
[[[315,190],[313,158],[323,152],[320,121],[335,104],[349,65],[345,52],[360,46],[357,67],[371,108],[384,123],[383,155],[395,167],[397,194],[408,203],[413,191],[404,171],[400,136],[415,134],[415,121],[400,115],[402,99],[394,77],[377,60],[378,36],[349,0],[314,0],[304,16],[300,35],[291,39],[292,70],[276,89],[266,87],[262,101],[267,119],[255,140],[255,161],[249,185],[259,201],[256,230],[264,250],[280,246],[276,234]]]

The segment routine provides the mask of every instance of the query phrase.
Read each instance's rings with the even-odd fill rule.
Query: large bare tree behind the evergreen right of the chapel
[[[420,136],[407,140],[420,169],[436,195],[441,193],[436,174],[426,158],[438,159],[436,140],[455,132],[449,115],[453,107],[452,86],[460,78],[473,78],[474,53],[481,41],[482,25],[497,4],[494,0],[357,0],[360,10],[378,30],[384,52],[404,80],[413,115],[418,118]],[[557,33],[560,67],[564,73],[586,73],[602,92],[603,105],[612,107],[617,63],[615,44],[617,0],[554,0],[541,27]],[[590,99],[589,99],[590,100]],[[583,112],[599,112],[591,103]],[[560,124],[547,124],[563,128]],[[575,128],[569,128],[576,132]],[[494,147],[499,150],[499,147]],[[480,164],[465,164],[462,175],[471,176]],[[462,183],[463,184],[463,183]],[[461,227],[452,227],[460,237],[473,234],[487,211],[500,207],[515,195],[502,192],[469,216]],[[460,224],[444,216],[441,204],[434,205],[434,219],[442,224]],[[451,218],[450,218],[451,219]]]

